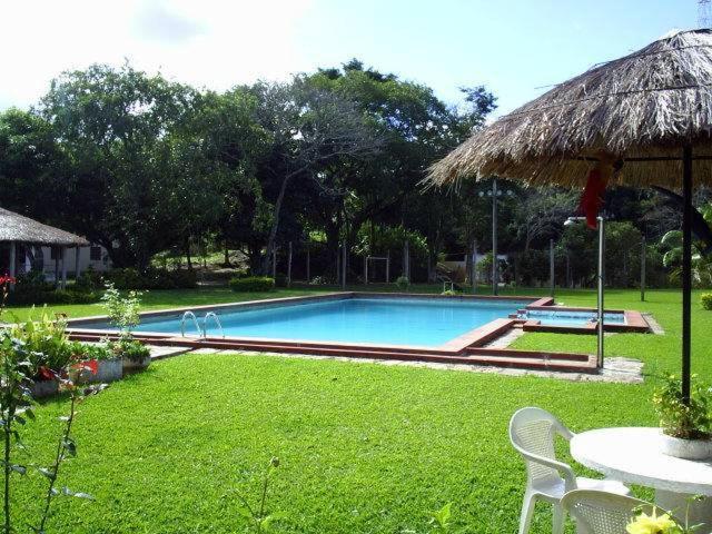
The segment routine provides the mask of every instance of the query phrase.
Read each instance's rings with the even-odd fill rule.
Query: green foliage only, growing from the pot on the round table
[[[673,375],[665,378],[653,395],[660,426],[669,436],[682,439],[712,437],[712,387],[692,375],[690,402],[682,397],[682,382]]]

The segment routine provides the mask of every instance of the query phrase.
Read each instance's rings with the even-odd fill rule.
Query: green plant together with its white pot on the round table
[[[712,457],[712,387],[692,376],[688,403],[682,397],[682,382],[668,376],[653,396],[662,429],[662,452],[686,459]]]

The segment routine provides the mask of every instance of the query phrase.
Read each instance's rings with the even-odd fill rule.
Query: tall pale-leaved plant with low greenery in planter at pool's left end
[[[140,291],[129,291],[122,297],[112,283],[106,285],[106,291],[101,297],[109,315],[109,323],[119,328],[118,340],[109,342],[107,346],[116,357],[122,359],[125,372],[145,369],[151,362],[148,347],[134,339],[131,334],[141,320],[140,297]]]

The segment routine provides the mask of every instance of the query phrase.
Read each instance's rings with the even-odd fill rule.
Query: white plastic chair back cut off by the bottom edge
[[[645,501],[595,490],[568,492],[561,505],[576,521],[576,534],[626,534],[634,511],[650,515],[655,510]],[[657,510],[659,515],[663,513]]]

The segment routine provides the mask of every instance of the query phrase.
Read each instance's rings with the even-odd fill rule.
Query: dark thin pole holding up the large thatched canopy
[[[692,145],[682,150],[682,398],[690,402],[692,308]]]

